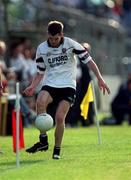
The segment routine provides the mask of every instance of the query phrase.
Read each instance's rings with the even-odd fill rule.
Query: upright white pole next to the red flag
[[[19,111],[20,111],[20,102],[19,102],[20,94],[19,94],[19,83],[16,83],[16,167],[20,166],[20,158],[19,158]]]

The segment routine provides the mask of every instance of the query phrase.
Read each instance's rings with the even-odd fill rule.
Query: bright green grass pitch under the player
[[[20,151],[20,168],[12,151],[12,138],[1,137],[0,180],[130,180],[131,127],[101,127],[102,145],[98,144],[97,128],[66,129],[62,159],[53,160],[53,135],[49,131],[47,152],[27,154]],[[26,147],[38,140],[36,129],[25,129]]]

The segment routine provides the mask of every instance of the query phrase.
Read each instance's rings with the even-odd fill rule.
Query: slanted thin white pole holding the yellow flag
[[[95,116],[96,116],[96,125],[97,125],[97,132],[98,132],[98,143],[102,144],[101,130],[100,130],[100,123],[99,123],[99,120],[98,120],[98,112],[97,112],[96,96],[95,96],[93,80],[91,80],[91,86],[92,86],[93,99],[94,99],[94,111],[95,111]]]

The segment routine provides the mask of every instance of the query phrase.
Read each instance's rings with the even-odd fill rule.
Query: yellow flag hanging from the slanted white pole
[[[91,86],[91,83],[89,83],[87,92],[80,105],[81,116],[83,116],[85,120],[87,119],[87,116],[88,116],[89,103],[93,101],[94,101],[94,97],[93,97],[92,86]]]

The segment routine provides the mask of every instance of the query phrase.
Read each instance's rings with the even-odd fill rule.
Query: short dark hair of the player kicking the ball
[[[50,21],[48,24],[48,33],[52,36],[62,33],[64,25],[59,21]]]

